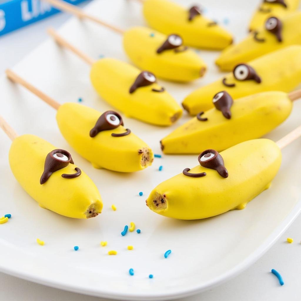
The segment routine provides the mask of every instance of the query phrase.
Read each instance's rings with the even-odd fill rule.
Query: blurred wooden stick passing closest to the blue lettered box
[[[106,26],[106,27],[112,29],[113,31],[115,31],[116,33],[121,33],[121,34],[124,33],[123,29],[120,29],[120,28],[112,26],[106,22],[103,22],[100,19],[98,19],[97,17],[91,16],[91,15],[85,13],[85,11],[76,7],[75,5],[69,4],[69,3],[61,1],[61,0],[43,0],[43,1],[50,3],[52,6],[54,6],[55,8],[58,8],[61,11],[66,11],[70,14],[76,15],[80,19],[86,18],[86,19],[94,21],[100,25]]]

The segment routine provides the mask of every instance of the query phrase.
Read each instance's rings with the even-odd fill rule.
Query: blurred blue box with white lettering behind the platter
[[[65,0],[78,4],[85,0]],[[58,13],[49,3],[40,0],[0,0],[0,36]]]

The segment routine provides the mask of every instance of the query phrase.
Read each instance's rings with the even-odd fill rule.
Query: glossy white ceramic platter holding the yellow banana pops
[[[207,0],[202,4],[210,17],[219,21],[228,18],[227,28],[237,40],[244,36],[257,5],[234,0]],[[141,6],[136,1],[98,0],[86,10],[123,28],[143,24]],[[60,33],[92,57],[103,54],[127,60],[121,37],[98,25],[72,18]],[[198,86],[221,76],[213,64],[218,53],[199,53],[209,67],[205,78],[187,85],[160,81],[179,102]],[[85,105],[100,111],[111,109],[94,92],[89,66],[51,39],[13,69],[61,103],[76,102],[81,97]],[[32,133],[69,150],[77,165],[96,183],[104,201],[103,213],[89,220],[69,219],[39,207],[12,175],[8,164],[11,142],[0,131],[0,215],[13,216],[0,225],[2,272],[65,290],[123,300],[188,296],[228,280],[258,259],[301,209],[301,140],[284,149],[281,170],[272,187],[245,210],[200,221],[177,221],[151,212],[145,199],[163,180],[197,165],[197,156],[163,156],[156,158],[150,168],[133,174],[97,170],[64,141],[55,111],[5,76],[0,79],[0,106],[1,115],[17,133]],[[296,102],[289,119],[268,138],[276,141],[298,126],[300,110],[301,104]],[[188,119],[185,115],[179,123]],[[124,121],[155,153],[160,153],[159,140],[178,126],[159,128],[126,117]],[[162,171],[158,171],[160,165]],[[142,197],[139,191],[143,191]],[[111,209],[112,204],[116,211]],[[132,221],[141,233],[122,237],[124,225]],[[45,245],[38,245],[36,238],[44,240]],[[108,245],[101,247],[101,240],[107,240]],[[73,250],[75,245],[79,246],[77,252]],[[127,250],[128,245],[134,250]],[[165,259],[163,254],[168,249],[172,254]],[[117,250],[118,255],[108,256],[108,250]],[[129,275],[130,268],[134,276]],[[149,274],[154,278],[149,279]]]

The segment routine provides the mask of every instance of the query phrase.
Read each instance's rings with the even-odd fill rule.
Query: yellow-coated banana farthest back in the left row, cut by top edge
[[[167,0],[146,0],[143,14],[149,26],[161,33],[177,33],[185,45],[221,50],[233,37],[212,20],[198,14],[189,20],[189,10]]]

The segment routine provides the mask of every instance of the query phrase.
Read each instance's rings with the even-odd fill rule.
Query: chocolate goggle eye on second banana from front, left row
[[[123,126],[122,117],[115,111],[106,111],[98,118],[94,128],[90,131],[90,137],[95,137],[99,132],[116,129]]]

